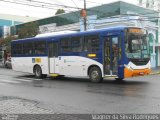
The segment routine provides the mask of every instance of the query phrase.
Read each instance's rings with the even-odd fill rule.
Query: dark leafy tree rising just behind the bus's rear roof
[[[19,38],[29,38],[34,37],[39,32],[39,27],[37,22],[31,22],[25,24],[23,27],[18,29]]]

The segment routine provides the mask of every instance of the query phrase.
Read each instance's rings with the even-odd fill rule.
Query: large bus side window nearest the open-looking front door
[[[100,40],[98,35],[85,36],[84,51],[91,53],[97,52],[99,50],[99,42]]]

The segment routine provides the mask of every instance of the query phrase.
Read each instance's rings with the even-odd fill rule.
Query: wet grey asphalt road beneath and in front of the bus
[[[95,84],[0,68],[0,113],[160,113],[160,75]]]

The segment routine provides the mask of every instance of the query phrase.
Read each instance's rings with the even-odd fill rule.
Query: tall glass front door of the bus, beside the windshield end
[[[104,37],[104,74],[118,75],[118,36]]]

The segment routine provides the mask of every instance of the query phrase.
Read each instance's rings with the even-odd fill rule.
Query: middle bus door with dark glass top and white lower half
[[[59,73],[57,42],[48,42],[48,59],[49,73]]]

